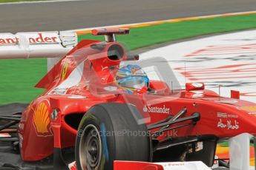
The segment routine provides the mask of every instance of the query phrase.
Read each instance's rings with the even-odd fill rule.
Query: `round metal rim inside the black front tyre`
[[[92,124],[85,126],[79,145],[79,160],[82,169],[98,169],[101,157],[102,141],[99,130]]]

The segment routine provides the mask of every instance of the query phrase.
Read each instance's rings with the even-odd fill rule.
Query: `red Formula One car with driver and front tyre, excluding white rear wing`
[[[45,92],[21,115],[1,115],[1,132],[19,123],[18,137],[0,140],[19,142],[22,166],[68,169],[76,161],[71,169],[114,169],[114,160],[212,166],[218,140],[255,134],[256,103],[237,92],[220,97],[203,83],[181,89],[164,58],[140,61],[116,41],[128,32],[93,30],[106,41],[81,41],[36,84]]]

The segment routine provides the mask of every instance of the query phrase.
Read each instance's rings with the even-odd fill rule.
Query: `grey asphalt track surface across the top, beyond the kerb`
[[[1,4],[0,33],[73,30],[255,9],[255,0],[82,0]]]

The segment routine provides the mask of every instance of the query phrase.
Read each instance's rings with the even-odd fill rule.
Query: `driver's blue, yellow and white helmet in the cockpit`
[[[145,71],[137,65],[127,65],[116,72],[116,84],[129,94],[137,89],[148,89],[149,79]]]

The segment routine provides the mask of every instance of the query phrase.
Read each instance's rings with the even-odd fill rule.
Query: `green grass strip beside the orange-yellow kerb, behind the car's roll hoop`
[[[177,23],[164,23],[150,27],[138,27],[131,29],[129,35],[119,35],[117,38],[118,41],[125,42],[131,50],[134,50],[152,44],[191,38],[198,35],[223,33],[249,28],[256,28],[256,14],[205,18]],[[102,36],[95,37],[89,34],[79,36],[79,40],[88,38],[104,40]]]

